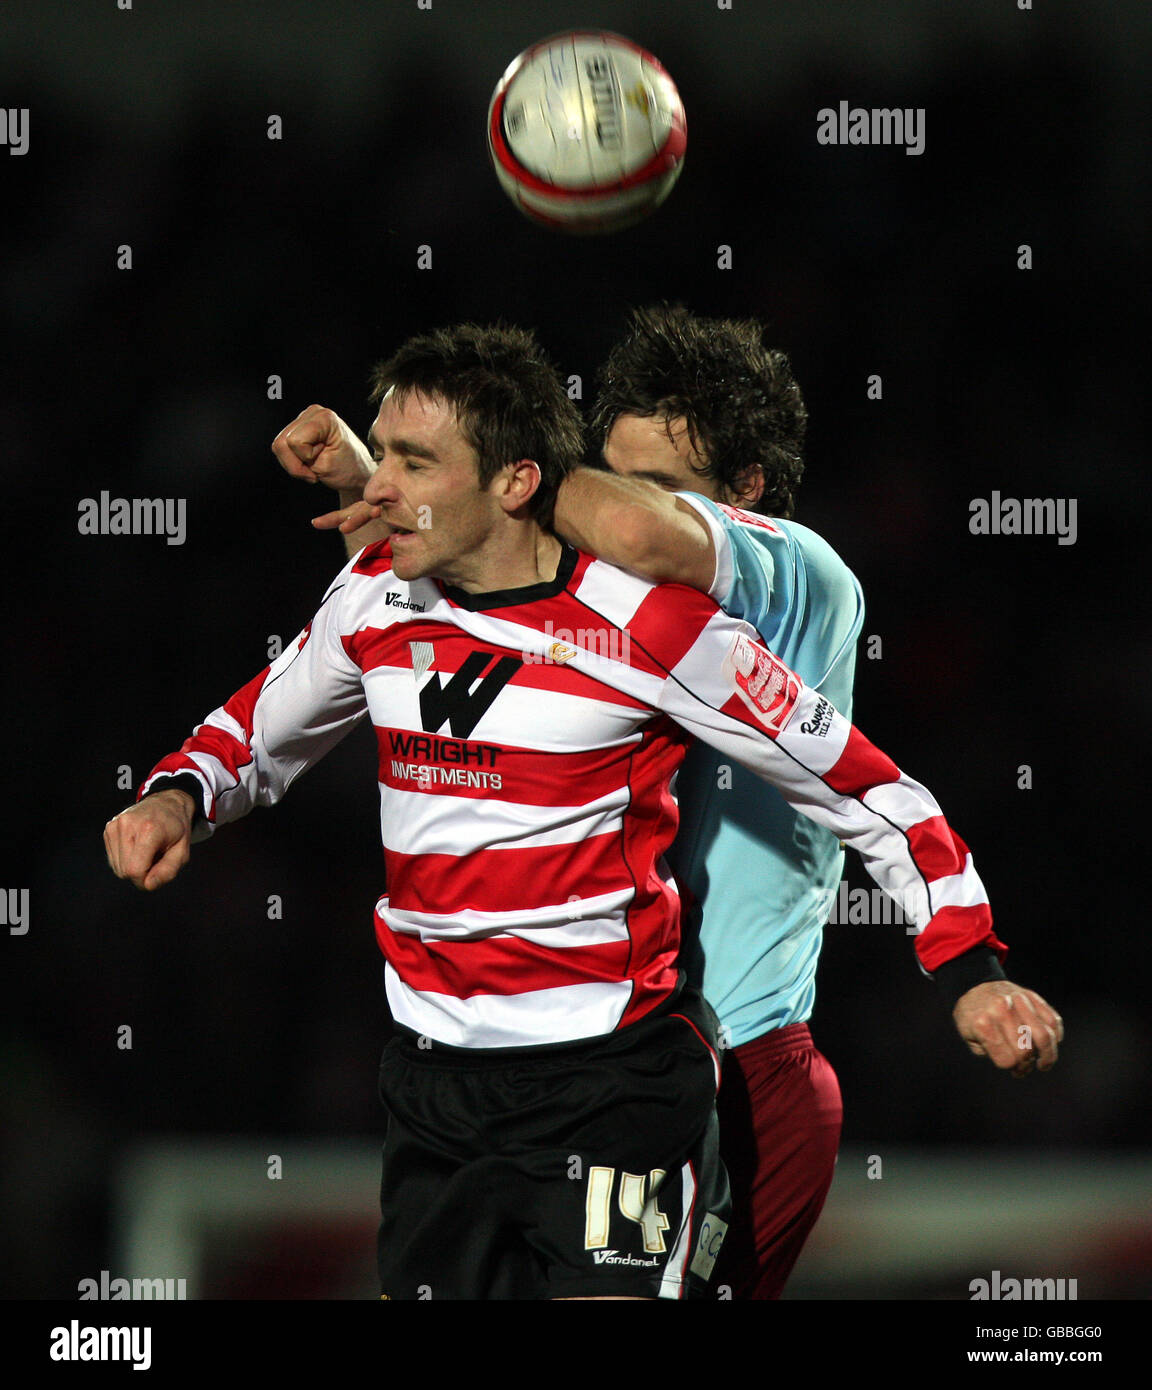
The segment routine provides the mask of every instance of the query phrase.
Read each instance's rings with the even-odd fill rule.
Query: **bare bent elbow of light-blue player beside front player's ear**
[[[560,485],[554,525],[578,549],[646,580],[707,592],[716,574],[705,521],[652,482],[578,468]]]

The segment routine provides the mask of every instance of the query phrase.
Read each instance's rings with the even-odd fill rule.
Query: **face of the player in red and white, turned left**
[[[479,485],[475,449],[460,432],[453,407],[417,392],[400,406],[389,392],[368,448],[379,466],[364,500],[379,506],[392,527],[397,578],[431,574],[450,584],[471,581],[503,513],[491,489]]]

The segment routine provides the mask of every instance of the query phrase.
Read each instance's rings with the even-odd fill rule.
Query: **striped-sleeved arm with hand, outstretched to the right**
[[[987,894],[931,792],[741,624],[705,600],[696,612],[684,594],[675,612],[671,626],[645,614],[649,651],[670,646],[663,664],[674,678],[661,708],[862,855],[919,929],[921,966],[955,1001],[956,1029],[973,1052],[1017,1076],[1048,1070],[1063,1023],[1035,991],[1003,977]]]

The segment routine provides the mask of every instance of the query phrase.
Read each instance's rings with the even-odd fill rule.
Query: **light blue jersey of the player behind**
[[[864,599],[844,560],[795,521],[681,496],[711,530],[711,598],[850,719]],[[835,835],[705,744],[689,751],[677,798],[681,827],[668,865],[688,890],[682,960],[718,1013],[725,1042],[739,1047],[805,1022],[844,870]]]

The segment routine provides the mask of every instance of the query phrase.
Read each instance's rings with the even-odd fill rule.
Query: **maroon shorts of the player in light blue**
[[[732,1223],[713,1289],[778,1298],[824,1207],[839,1144],[839,1083],[806,1023],[730,1048],[716,1102]]]

